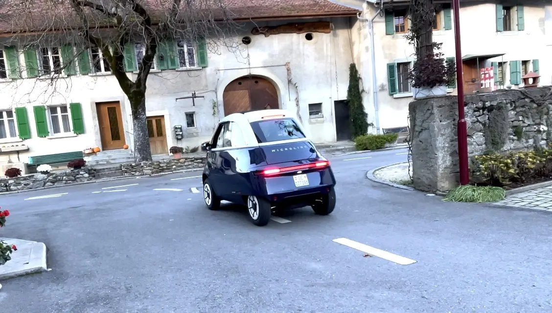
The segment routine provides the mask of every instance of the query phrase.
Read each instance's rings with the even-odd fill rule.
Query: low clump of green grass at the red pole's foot
[[[506,191],[500,187],[463,185],[450,190],[443,201],[482,203],[505,198]]]

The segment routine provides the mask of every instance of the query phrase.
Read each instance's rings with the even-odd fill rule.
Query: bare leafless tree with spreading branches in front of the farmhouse
[[[0,33],[9,38],[8,45],[70,47],[60,51],[62,62],[54,60],[52,67],[26,68],[31,77],[47,77],[54,85],[75,72],[83,55],[88,57],[88,49],[101,51],[129,98],[137,162],[151,161],[145,101],[155,58],[174,62],[176,56],[165,46],[174,39],[190,43],[207,39],[204,49],[211,52],[223,46],[235,48],[233,38],[240,25],[232,17],[224,0],[0,0]],[[144,47],[134,79],[125,71],[129,66],[125,49],[134,53],[132,43]]]

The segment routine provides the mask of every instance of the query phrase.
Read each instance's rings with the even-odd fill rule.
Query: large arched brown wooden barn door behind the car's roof
[[[278,92],[276,87],[267,79],[247,76],[232,81],[224,88],[222,94],[224,115],[232,113],[259,110],[279,109]]]

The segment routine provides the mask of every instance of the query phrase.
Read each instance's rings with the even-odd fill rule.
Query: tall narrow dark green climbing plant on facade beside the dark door
[[[353,138],[365,135],[368,132],[368,114],[364,111],[362,94],[360,92],[360,76],[357,66],[352,63],[349,66],[349,88],[347,89],[349,100],[349,115],[351,116],[351,130]]]

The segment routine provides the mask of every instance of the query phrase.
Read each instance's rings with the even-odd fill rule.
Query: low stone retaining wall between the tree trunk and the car
[[[200,169],[205,166],[205,157],[184,157],[153,162],[126,163],[121,165],[124,176],[160,174],[183,169]]]

